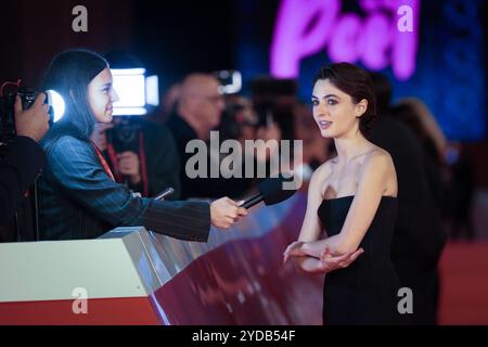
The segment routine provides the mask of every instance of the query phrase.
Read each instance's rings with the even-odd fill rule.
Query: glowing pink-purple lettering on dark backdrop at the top
[[[333,62],[391,65],[399,80],[415,72],[421,0],[359,0],[367,16],[341,13],[341,0],[282,0],[271,47],[271,74],[295,78],[300,61],[323,49]],[[404,25],[407,23],[407,25]]]

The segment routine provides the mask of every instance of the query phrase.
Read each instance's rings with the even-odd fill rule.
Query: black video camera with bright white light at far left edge
[[[22,108],[28,110],[39,93],[31,88],[20,87],[20,82],[12,83],[17,86],[16,92],[3,94],[3,88],[10,85],[4,83],[0,89],[0,157],[3,157],[15,139],[15,99],[18,95],[22,100]],[[63,98],[54,90],[48,90],[46,93],[46,104],[49,104],[50,126],[61,119],[64,115],[65,104]]]

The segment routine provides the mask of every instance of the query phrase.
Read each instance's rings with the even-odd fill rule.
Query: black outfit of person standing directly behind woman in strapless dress
[[[389,115],[374,124],[371,141],[388,151],[398,179],[398,216],[391,260],[401,285],[414,293],[412,324],[435,324],[439,293],[437,265],[446,233],[428,184],[426,155],[415,134]],[[439,183],[439,181],[437,181]]]

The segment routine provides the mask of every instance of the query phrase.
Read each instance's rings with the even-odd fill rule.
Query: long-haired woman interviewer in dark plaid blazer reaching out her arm
[[[94,124],[112,121],[113,89],[107,62],[87,50],[57,54],[43,80],[66,101],[64,117],[42,140],[48,165],[39,181],[41,240],[98,237],[116,227],[145,228],[171,237],[206,242],[210,224],[229,229],[247,210],[222,197],[167,202],[134,196],[117,183],[102,152],[90,141]]]

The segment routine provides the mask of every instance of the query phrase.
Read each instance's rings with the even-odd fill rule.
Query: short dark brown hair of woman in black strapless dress
[[[313,86],[320,79],[329,79],[337,89],[350,95],[355,104],[368,100],[368,108],[359,120],[359,130],[368,137],[376,119],[376,95],[368,72],[349,63],[325,65],[313,78]]]

